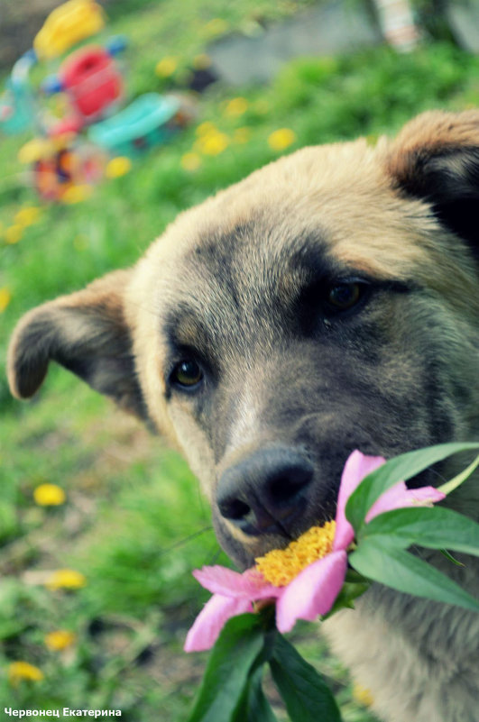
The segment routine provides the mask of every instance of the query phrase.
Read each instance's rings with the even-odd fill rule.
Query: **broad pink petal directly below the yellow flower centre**
[[[347,554],[332,552],[309,564],[284,588],[276,602],[276,626],[290,632],[298,619],[314,621],[333,606],[345,581]]]

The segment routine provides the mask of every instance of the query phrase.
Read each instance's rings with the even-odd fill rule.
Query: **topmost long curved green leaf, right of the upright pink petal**
[[[446,459],[453,453],[471,449],[479,449],[479,443],[439,443],[426,449],[403,453],[386,462],[376,471],[372,471],[351,494],[345,507],[345,515],[354,526],[356,534],[364,525],[364,517],[369,509],[384,491],[398,481],[410,479],[419,474],[419,471],[428,469],[432,464]]]

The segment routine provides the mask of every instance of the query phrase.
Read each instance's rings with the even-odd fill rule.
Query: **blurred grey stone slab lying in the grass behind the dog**
[[[380,42],[379,26],[362,3],[335,0],[272,24],[259,35],[221,38],[207,53],[220,78],[244,85],[271,80],[292,58],[334,55]]]

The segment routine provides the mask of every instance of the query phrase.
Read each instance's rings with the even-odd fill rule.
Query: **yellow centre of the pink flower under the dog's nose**
[[[328,521],[324,526],[311,526],[286,549],[273,549],[258,557],[256,569],[275,587],[285,587],[298,576],[299,571],[333,551],[335,533],[335,521]]]

